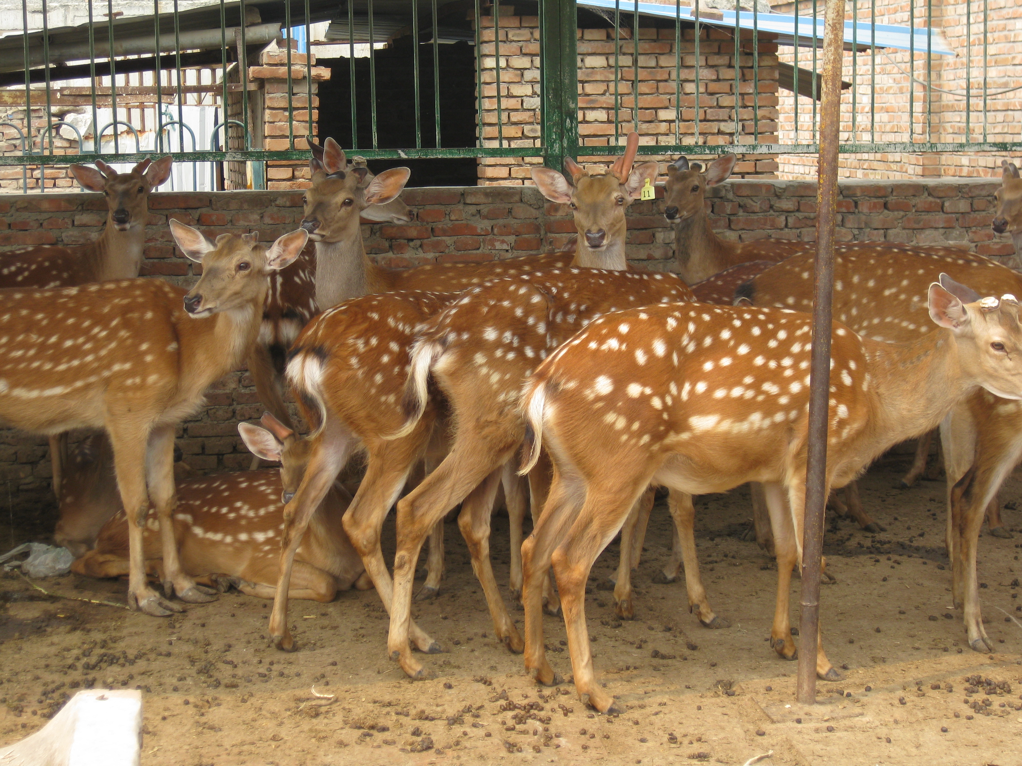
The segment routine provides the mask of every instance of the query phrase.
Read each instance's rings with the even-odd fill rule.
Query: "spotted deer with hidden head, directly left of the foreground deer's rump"
[[[521,650],[521,637],[494,581],[489,535],[502,468],[515,456],[524,433],[516,403],[522,381],[551,350],[601,314],[691,297],[688,287],[669,274],[554,269],[473,288],[417,333],[402,400],[404,423],[390,438],[400,440],[422,427],[432,402],[430,381],[449,408],[454,428],[443,463],[398,502],[387,647],[408,675],[424,672],[409,651],[414,565],[425,534],[459,502],[458,524],[497,635],[512,651]]]

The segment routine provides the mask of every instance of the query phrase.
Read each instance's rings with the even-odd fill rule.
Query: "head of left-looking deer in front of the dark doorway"
[[[307,189],[301,228],[314,242],[339,242],[353,236],[359,217],[370,205],[385,205],[401,194],[411,174],[391,167],[372,176],[368,167],[347,166],[344,150],[332,138],[323,146],[309,139],[313,185]]]

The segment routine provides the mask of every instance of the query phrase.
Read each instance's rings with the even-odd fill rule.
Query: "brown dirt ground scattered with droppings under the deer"
[[[670,544],[662,506],[635,578],[635,621],[618,621],[611,594],[597,587],[617,544],[597,563],[587,614],[597,671],[625,709],[619,717],[587,710],[569,684],[542,688],[523,674],[521,658],[492,637],[465,546],[449,524],[442,594],[414,610],[445,654],[426,658],[434,676],[417,682],[386,659],[387,620],[372,591],[332,604],[292,602],[299,649],[284,654],[267,645],[269,603],[257,599],[225,594],[160,620],[47,597],[17,574],[3,576],[0,745],[42,726],[76,688],[103,686],[143,689],[145,766],[744,764],[768,752],[761,763],[777,766],[1017,766],[1022,627],[1006,613],[1022,618],[1022,516],[1012,504],[1022,502],[1022,482],[1011,478],[1002,495],[1015,538],[980,540],[980,593],[997,650],[980,655],[968,649],[950,604],[943,484],[894,489],[903,467],[888,461],[863,485],[886,532],[828,523],[825,553],[838,582],[823,588],[822,619],[845,679],[821,681],[814,707],[795,704],[795,665],[768,643],[776,572],[754,542],[740,539],[749,506],[739,489],[697,504],[704,579],[730,628],[700,627],[681,582],[652,584]],[[30,526],[13,523],[15,538]],[[495,520],[504,581],[506,529],[505,517]],[[0,529],[0,539],[8,532]],[[72,575],[39,584],[124,602],[122,582]],[[551,661],[568,676],[563,623],[545,620]],[[335,702],[314,697],[313,685]]]

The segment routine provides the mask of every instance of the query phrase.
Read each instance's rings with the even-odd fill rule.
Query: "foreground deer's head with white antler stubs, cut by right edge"
[[[1014,295],[980,298],[946,274],[930,285],[930,319],[951,331],[965,370],[990,393],[1022,399],[1022,325]]]

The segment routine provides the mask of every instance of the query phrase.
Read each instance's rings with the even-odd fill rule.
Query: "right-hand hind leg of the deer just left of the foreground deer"
[[[515,654],[521,654],[525,648],[518,629],[515,628],[511,615],[508,614],[504,600],[501,597],[497,578],[494,577],[494,567],[490,559],[490,520],[493,515],[494,499],[497,487],[500,485],[503,468],[487,476],[478,487],[469,493],[462,502],[458,515],[458,528],[462,537],[468,543],[468,552],[472,557],[472,570],[475,572],[482,592],[490,607],[490,617],[494,621],[497,639]]]

